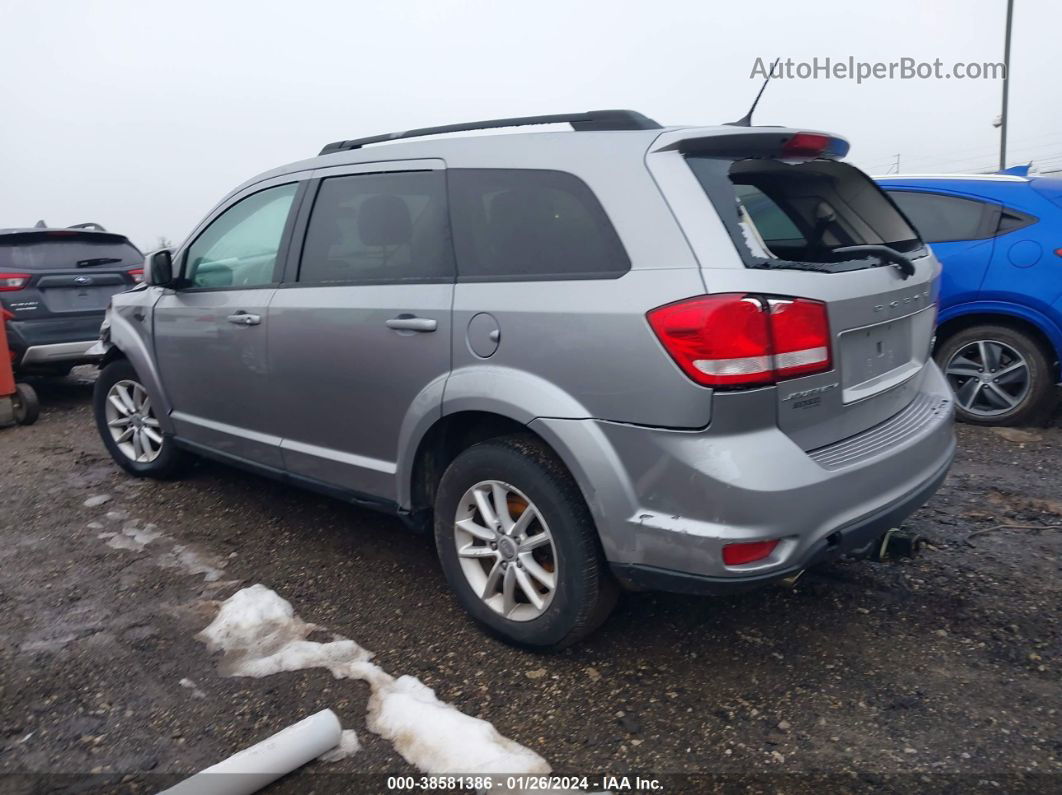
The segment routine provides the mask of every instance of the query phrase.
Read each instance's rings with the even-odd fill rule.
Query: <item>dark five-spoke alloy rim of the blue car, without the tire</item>
[[[1007,414],[1029,394],[1029,363],[998,340],[976,340],[959,348],[944,375],[963,411],[981,417]]]

